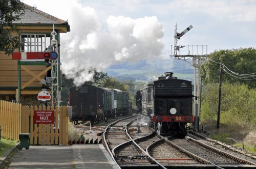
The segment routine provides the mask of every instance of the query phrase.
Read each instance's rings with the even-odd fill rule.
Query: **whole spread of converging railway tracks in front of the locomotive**
[[[102,143],[119,168],[256,168],[255,163],[205,145],[202,142],[207,141],[196,136],[159,136],[138,116],[95,130],[104,130]]]

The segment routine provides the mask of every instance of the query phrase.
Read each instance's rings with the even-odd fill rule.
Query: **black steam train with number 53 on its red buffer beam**
[[[191,81],[177,79],[173,72],[166,72],[137,92],[136,105],[150,117],[150,124],[158,134],[184,136],[187,123],[194,122],[193,97]]]

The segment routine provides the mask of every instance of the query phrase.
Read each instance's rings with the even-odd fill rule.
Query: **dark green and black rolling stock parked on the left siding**
[[[69,106],[73,107],[70,121],[100,121],[130,113],[129,97],[118,89],[97,88],[92,85],[71,87]]]

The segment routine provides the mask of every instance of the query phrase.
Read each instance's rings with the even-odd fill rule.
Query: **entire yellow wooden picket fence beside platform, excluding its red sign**
[[[34,110],[54,111],[54,124],[35,124]],[[18,140],[19,133],[30,133],[30,145],[68,145],[67,106],[22,106],[1,100],[2,136]]]

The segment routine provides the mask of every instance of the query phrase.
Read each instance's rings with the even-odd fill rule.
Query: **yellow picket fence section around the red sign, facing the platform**
[[[54,124],[34,124],[34,110],[54,110]],[[30,145],[68,145],[67,106],[22,106],[22,132],[30,133]]]

